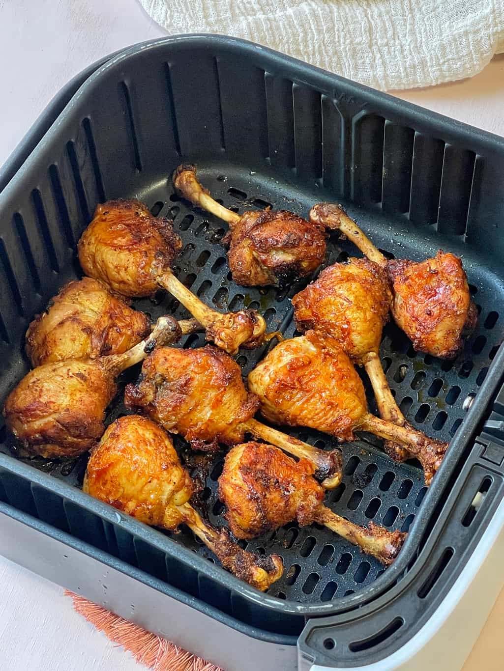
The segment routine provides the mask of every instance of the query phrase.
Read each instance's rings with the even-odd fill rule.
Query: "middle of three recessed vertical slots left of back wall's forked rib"
[[[292,85],[296,172],[300,178],[322,176],[321,94],[314,89]]]

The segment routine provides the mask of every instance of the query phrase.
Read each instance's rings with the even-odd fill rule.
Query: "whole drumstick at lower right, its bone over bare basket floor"
[[[372,522],[366,529],[333,513],[323,505],[325,492],[312,474],[305,459],[295,462],[271,445],[232,448],[218,485],[231,531],[237,538],[253,538],[293,520],[301,526],[318,522],[386,566],[392,564],[407,534]]]

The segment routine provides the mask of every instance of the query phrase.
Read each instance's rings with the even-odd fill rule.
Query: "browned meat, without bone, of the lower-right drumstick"
[[[243,443],[232,448],[219,478],[219,498],[237,538],[253,538],[297,520],[311,524],[325,491],[313,467],[295,462],[271,445]]]

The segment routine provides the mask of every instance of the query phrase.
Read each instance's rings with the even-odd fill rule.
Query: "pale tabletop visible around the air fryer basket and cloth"
[[[101,56],[165,33],[136,0],[0,0],[0,165],[51,97]],[[504,56],[471,80],[396,93],[504,136]],[[501,595],[464,671],[502,669]],[[62,589],[0,556],[0,669],[138,671]]]

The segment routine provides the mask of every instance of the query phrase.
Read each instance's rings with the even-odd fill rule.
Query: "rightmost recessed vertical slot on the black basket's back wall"
[[[445,147],[437,218],[440,233],[461,235],[466,232],[475,160],[474,152],[450,144]]]

